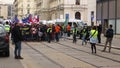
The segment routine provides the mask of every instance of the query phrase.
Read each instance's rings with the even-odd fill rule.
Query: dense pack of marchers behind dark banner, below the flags
[[[10,32],[14,28],[14,24],[11,25]],[[59,38],[63,36],[63,33],[67,33],[70,37],[70,26],[64,27],[63,25],[55,24],[32,24],[32,25],[20,25],[22,31],[23,41],[59,41]],[[64,31],[65,29],[65,31]],[[13,33],[14,34],[14,33]]]

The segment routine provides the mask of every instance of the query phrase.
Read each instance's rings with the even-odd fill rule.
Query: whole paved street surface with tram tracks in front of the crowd
[[[118,40],[117,40],[118,41]],[[81,45],[81,40],[73,44],[72,40],[60,42],[23,42],[23,60],[15,60],[11,45],[11,56],[0,57],[0,68],[120,68],[120,50],[112,49],[111,53],[91,54],[90,44]]]

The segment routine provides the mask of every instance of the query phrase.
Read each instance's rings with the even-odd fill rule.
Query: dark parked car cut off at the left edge
[[[9,57],[9,34],[5,31],[5,27],[0,24],[0,56]]]

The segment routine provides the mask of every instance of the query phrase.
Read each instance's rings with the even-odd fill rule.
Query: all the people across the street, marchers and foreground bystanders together
[[[70,37],[71,34],[73,36],[73,43],[77,42],[76,37],[82,40],[81,45],[86,45],[87,41],[90,41],[92,53],[96,53],[96,43],[101,43],[101,33],[102,33],[102,25],[99,26],[84,26],[81,30],[78,30],[77,25],[74,24],[73,29],[71,30],[71,25],[64,24],[8,24],[6,22],[6,30],[11,33],[11,39],[13,43],[16,45],[15,47],[15,58],[23,59],[20,55],[21,52],[21,41],[47,41],[50,43],[51,41],[59,42],[59,38],[66,40],[67,37]],[[10,27],[8,27],[8,25]],[[9,29],[8,29],[9,28]],[[110,34],[111,35],[108,35]],[[113,38],[113,29],[112,25],[110,28],[106,30],[106,44],[103,52],[106,49],[107,43],[110,43],[109,52],[111,49],[111,42]],[[18,50],[18,54],[17,54]]]

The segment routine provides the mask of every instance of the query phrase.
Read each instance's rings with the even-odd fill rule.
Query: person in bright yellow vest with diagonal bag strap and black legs
[[[96,30],[96,26],[93,26],[91,31],[90,31],[90,43],[91,43],[92,54],[96,53],[96,46],[95,45],[98,41],[97,35],[98,35],[98,31]],[[94,52],[93,52],[93,49],[95,50]]]

